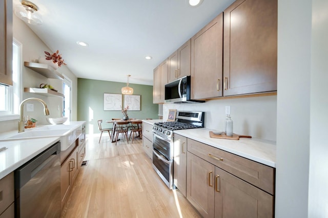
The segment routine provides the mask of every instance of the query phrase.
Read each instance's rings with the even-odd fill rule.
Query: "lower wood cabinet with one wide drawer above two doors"
[[[272,167],[188,139],[187,199],[203,217],[274,217],[274,174]]]

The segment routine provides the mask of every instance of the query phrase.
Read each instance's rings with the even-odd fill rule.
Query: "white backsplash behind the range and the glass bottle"
[[[205,127],[224,131],[226,106],[231,106],[234,133],[276,141],[276,95],[219,99],[195,104],[164,104],[163,119],[166,120],[168,118],[169,109],[204,111]]]

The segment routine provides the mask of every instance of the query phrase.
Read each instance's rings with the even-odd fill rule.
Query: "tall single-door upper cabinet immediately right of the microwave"
[[[222,96],[223,14],[191,38],[191,98]]]

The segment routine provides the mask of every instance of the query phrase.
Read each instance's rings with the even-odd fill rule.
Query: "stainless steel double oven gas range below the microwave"
[[[174,130],[204,127],[204,112],[178,111],[176,122],[155,123],[153,127],[153,168],[173,188]]]

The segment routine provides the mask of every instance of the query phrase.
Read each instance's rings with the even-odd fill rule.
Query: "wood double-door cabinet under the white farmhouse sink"
[[[61,209],[63,209],[71,188],[73,187],[74,180],[78,172],[78,147],[76,147],[71,155],[61,164],[60,177],[61,177]]]

